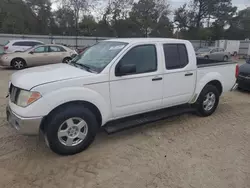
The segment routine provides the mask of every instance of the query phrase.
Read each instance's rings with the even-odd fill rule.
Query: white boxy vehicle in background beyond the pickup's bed
[[[225,52],[230,53],[230,55],[237,56],[240,50],[239,40],[218,40],[216,41],[216,47],[222,48]]]

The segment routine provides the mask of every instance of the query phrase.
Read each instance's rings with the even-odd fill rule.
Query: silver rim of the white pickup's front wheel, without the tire
[[[58,129],[58,139],[65,146],[80,144],[88,134],[88,125],[82,119],[73,117],[63,122]]]

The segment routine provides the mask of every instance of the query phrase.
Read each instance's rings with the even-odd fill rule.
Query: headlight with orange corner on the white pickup
[[[36,100],[40,99],[42,96],[39,92],[21,90],[18,99],[17,106],[26,107]]]

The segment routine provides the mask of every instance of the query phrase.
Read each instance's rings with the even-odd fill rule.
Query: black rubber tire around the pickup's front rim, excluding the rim
[[[76,146],[66,146],[61,143],[58,138],[58,131],[60,126],[69,118],[81,118],[88,126],[88,132],[85,139]],[[45,141],[50,149],[59,155],[74,155],[87,149],[94,141],[97,130],[98,122],[95,115],[82,105],[72,104],[60,111],[56,111],[48,118],[48,124],[45,127]],[[68,132],[68,131],[67,131]]]

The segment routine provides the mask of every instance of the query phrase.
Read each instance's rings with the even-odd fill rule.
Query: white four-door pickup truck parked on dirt
[[[189,104],[209,116],[237,74],[230,62],[197,65],[185,40],[112,39],[69,64],[14,73],[7,119],[22,134],[44,133],[54,152],[71,155],[86,149],[100,127],[114,132],[119,124],[162,119],[169,107]]]

